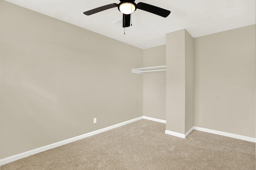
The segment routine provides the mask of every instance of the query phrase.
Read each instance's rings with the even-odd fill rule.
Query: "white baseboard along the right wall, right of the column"
[[[219,134],[219,135],[222,135],[222,136],[228,136],[228,137],[231,137],[231,138],[236,138],[236,139],[241,139],[241,140],[246,140],[246,141],[249,141],[249,142],[256,143],[256,138],[252,138],[252,137],[248,137],[248,136],[242,136],[242,135],[239,135],[239,134],[233,134],[233,133],[222,132],[222,131],[212,130],[212,129],[208,129],[208,128],[200,128],[200,127],[194,127],[194,130],[200,130],[200,131],[203,131],[203,132]]]

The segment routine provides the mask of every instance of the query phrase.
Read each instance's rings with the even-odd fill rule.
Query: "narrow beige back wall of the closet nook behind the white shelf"
[[[166,45],[143,50],[143,67],[166,65]],[[166,120],[166,71],[144,73],[143,115]]]

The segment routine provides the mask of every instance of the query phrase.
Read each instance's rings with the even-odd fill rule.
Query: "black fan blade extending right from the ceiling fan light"
[[[169,10],[165,10],[165,9],[159,8],[157,6],[146,4],[144,2],[139,2],[137,4],[137,8],[140,9],[140,10],[144,10],[144,11],[162,16],[164,18],[166,18],[171,13]]]

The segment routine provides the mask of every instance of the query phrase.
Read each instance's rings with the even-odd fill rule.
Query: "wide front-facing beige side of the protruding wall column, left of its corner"
[[[185,29],[166,34],[166,130],[185,133]]]

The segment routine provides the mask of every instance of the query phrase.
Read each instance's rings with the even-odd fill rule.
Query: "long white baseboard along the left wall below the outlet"
[[[56,148],[58,146],[62,146],[64,144],[68,144],[70,142],[74,142],[76,140],[80,140],[80,139],[83,139],[83,138],[86,138],[86,137],[89,137],[89,136],[92,136],[94,134],[98,134],[98,133],[101,133],[101,132],[105,132],[107,130],[110,130],[110,129],[113,129],[113,128],[117,128],[117,127],[120,127],[122,125],[126,125],[128,123],[132,123],[132,122],[135,122],[135,121],[138,121],[140,119],[143,119],[143,117],[138,117],[138,118],[135,118],[135,119],[132,119],[132,120],[129,120],[129,121],[125,121],[125,122],[122,122],[122,123],[118,123],[116,125],[112,125],[110,127],[106,127],[106,128],[102,128],[102,129],[99,129],[99,130],[95,130],[93,132],[89,132],[89,133],[86,133],[86,134],[82,134],[80,136],[76,136],[76,137],[73,137],[73,138],[69,138],[69,139],[66,139],[66,140],[62,140],[60,142],[56,142],[56,143],[53,143],[53,144],[49,144],[49,145],[46,145],[46,146],[42,146],[40,148],[36,148],[36,149],[33,149],[33,150],[29,150],[27,152],[23,152],[23,153],[20,153],[20,154],[16,154],[16,155],[13,155],[13,156],[9,156],[7,158],[3,158],[0,160],[0,165],[4,165],[4,164],[8,164],[10,162],[13,162],[15,160],[19,160],[21,158],[25,158],[27,156],[30,156],[30,155],[34,155],[34,154],[37,154],[39,152],[43,152],[43,151],[46,151],[46,150],[49,150],[49,149],[52,149],[52,148]]]

